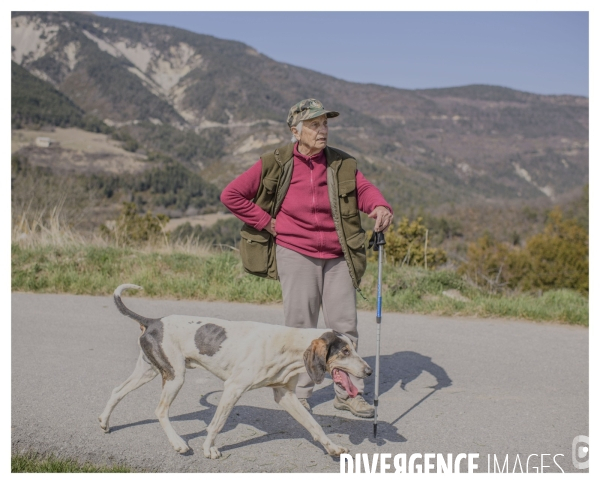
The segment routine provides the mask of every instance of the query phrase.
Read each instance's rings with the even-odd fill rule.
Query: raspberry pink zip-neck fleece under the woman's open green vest
[[[342,247],[335,231],[327,192],[325,152],[305,156],[294,147],[294,171],[281,210],[275,219],[275,242],[287,249],[318,259],[341,257]],[[221,202],[242,222],[264,229],[271,216],[252,202],[260,185],[262,161],[258,160],[221,193]],[[381,192],[356,172],[358,209],[370,213],[375,207],[392,210]]]

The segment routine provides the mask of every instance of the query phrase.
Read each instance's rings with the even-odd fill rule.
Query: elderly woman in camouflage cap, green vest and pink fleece
[[[358,211],[376,219],[375,231],[385,231],[393,216],[356,160],[327,146],[327,122],[337,116],[316,99],[292,106],[293,142],[262,155],[223,190],[221,201],[245,222],[240,250],[246,270],[280,280],[286,326],[316,328],[322,306],[327,328],[356,344],[356,290],[366,267]],[[373,416],[362,380],[344,372],[333,378],[335,408]],[[296,395],[309,411],[313,387],[301,374]]]

